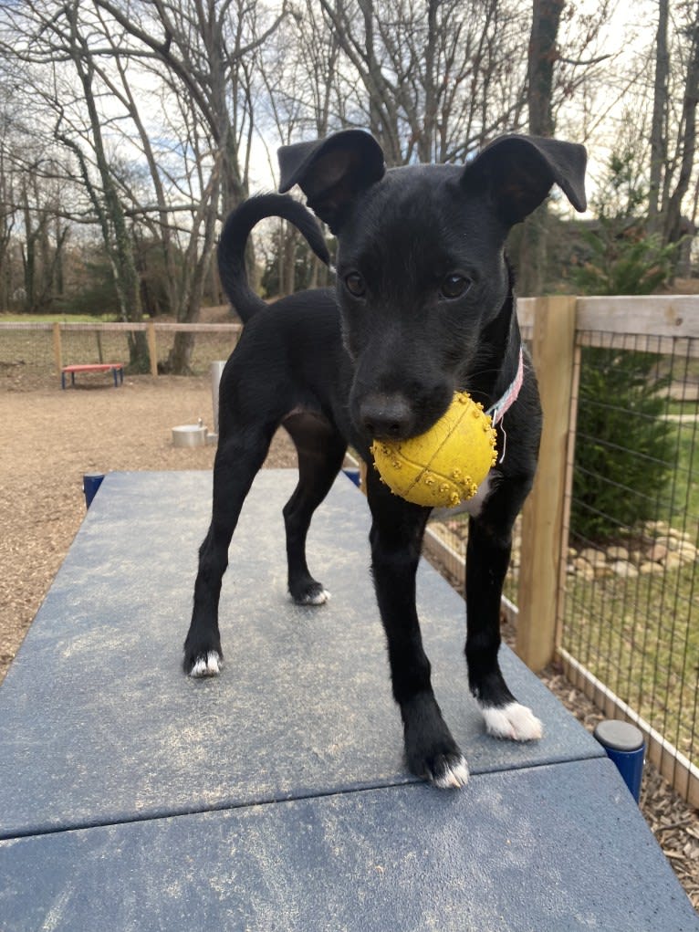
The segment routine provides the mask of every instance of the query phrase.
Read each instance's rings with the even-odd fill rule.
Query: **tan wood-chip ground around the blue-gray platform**
[[[82,476],[113,470],[208,470],[213,447],[176,449],[171,428],[212,426],[208,377],[58,377],[0,368],[0,680],[21,645],[85,516]],[[291,442],[275,438],[267,465],[295,466]],[[367,580],[368,584],[368,580]],[[599,713],[555,669],[544,680],[586,725]],[[699,908],[699,818],[646,766],[641,810],[688,896]]]

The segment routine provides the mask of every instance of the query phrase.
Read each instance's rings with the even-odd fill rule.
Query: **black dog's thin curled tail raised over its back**
[[[229,214],[218,244],[218,271],[230,303],[244,323],[264,308],[265,302],[254,294],[245,268],[245,245],[250,232],[266,217],[281,217],[297,227],[318,258],[330,265],[321,227],[313,214],[299,201],[283,194],[260,194],[244,200]]]

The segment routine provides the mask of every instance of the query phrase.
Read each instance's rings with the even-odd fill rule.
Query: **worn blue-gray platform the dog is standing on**
[[[193,681],[181,646],[210,477],[105,479],[0,689],[0,928],[699,928],[613,766],[507,650],[545,736],[484,733],[463,602],[427,565],[435,691],[475,775],[440,793],[404,771],[365,502],[337,480],[308,546],[333,599],[299,609],[294,483],[255,481],[224,672]]]

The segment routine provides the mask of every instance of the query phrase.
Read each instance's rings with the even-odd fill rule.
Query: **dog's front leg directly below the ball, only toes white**
[[[393,696],[403,718],[405,761],[413,774],[436,787],[462,787],[468,766],[432,692],[416,608],[416,573],[429,511],[391,495],[371,469],[367,480],[374,519],[372,570],[388,642]]]

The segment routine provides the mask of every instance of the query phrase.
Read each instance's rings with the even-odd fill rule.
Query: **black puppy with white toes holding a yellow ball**
[[[281,190],[300,185],[309,207],[337,236],[336,291],[303,292],[267,306],[248,287],[245,242],[263,217],[292,221],[328,262],[320,229],[301,204],[267,195],[246,201],[228,218],[219,267],[246,325],[221,380],[212,524],[199,550],[185,671],[218,673],[218,600],[228,545],[280,424],[295,441],[299,467],[283,510],[289,591],[296,602],[318,605],[327,593],[308,572],[306,536],[347,445],[371,463],[375,438],[428,430],[454,391],[466,390],[493,409],[500,453],[468,508],[469,683],[489,733],[539,738],[541,722],[515,701],[498,664],[512,527],[531,487],[541,430],[536,379],[526,355],[522,362],[504,241],[554,183],[584,210],[585,150],[506,136],[465,168],[385,171],[373,137],[346,130],[322,142],[284,146],[280,164]],[[366,491],[374,583],[407,765],[438,787],[459,787],[468,768],[432,692],[415,604],[430,510],[394,496],[371,467]]]

